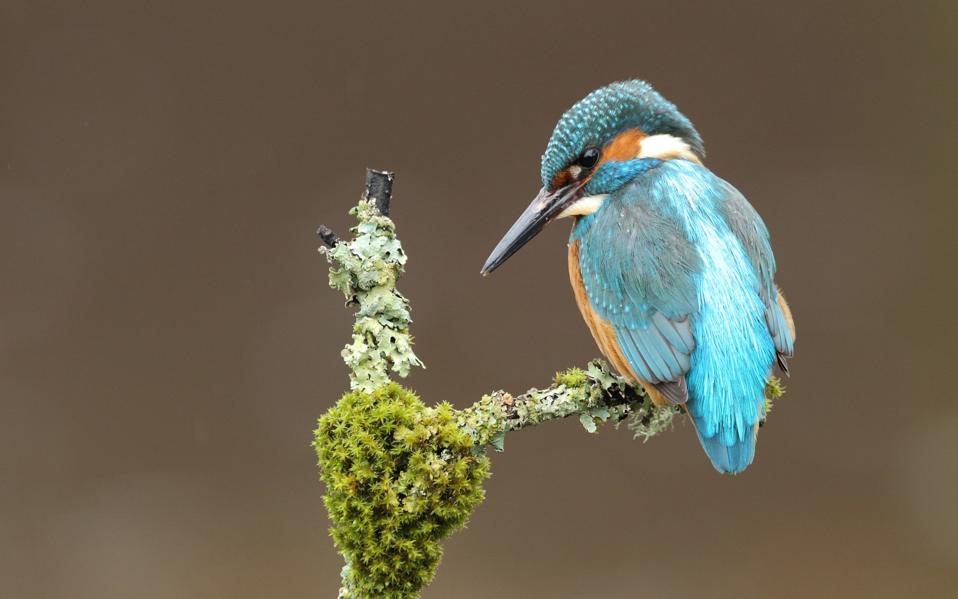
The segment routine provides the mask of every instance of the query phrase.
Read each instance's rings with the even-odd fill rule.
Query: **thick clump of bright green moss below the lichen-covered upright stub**
[[[354,597],[417,597],[440,542],[482,501],[489,460],[456,420],[448,403],[426,407],[395,382],[348,393],[319,419],[323,501]]]

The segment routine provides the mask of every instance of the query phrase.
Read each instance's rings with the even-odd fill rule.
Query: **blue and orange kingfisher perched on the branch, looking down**
[[[715,469],[738,473],[795,327],[768,229],[704,158],[692,122],[649,83],[592,92],[562,115],[542,189],[481,272],[573,219],[569,279],[599,349],[652,402],[683,406]]]

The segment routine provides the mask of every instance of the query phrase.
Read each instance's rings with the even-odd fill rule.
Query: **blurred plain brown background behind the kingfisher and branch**
[[[631,77],[772,231],[786,398],[737,477],[688,426],[510,435],[423,597],[958,596],[953,2],[65,4],[0,2],[0,596],[334,596],[316,227],[396,171],[408,384],[545,385],[598,356],[567,223],[479,267]]]

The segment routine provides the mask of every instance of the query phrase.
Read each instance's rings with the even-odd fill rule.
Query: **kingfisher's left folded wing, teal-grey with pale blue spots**
[[[611,325],[632,371],[685,403],[702,261],[668,211],[647,201],[649,192],[645,177],[627,184],[580,219],[573,238],[589,304]]]

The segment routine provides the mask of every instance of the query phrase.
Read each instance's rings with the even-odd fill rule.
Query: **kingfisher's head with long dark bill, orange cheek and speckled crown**
[[[592,214],[605,196],[661,160],[701,162],[692,122],[645,81],[620,81],[569,108],[542,155],[542,189],[492,250],[482,273],[506,262],[545,225]]]

